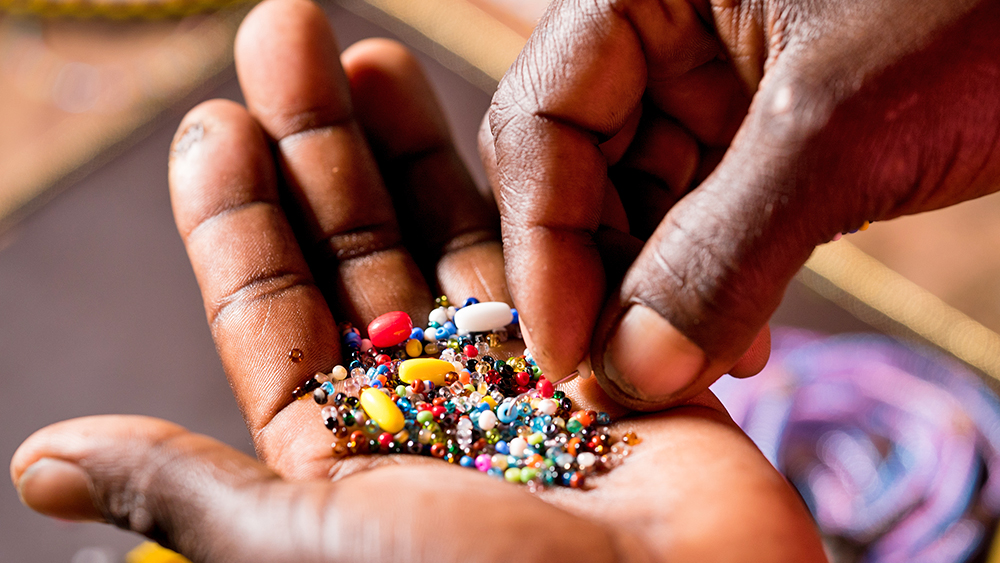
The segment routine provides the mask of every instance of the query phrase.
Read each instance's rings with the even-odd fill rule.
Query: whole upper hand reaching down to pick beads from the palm
[[[556,0],[481,133],[545,373],[655,410],[758,372],[816,245],[1000,187],[997,29],[990,0]]]

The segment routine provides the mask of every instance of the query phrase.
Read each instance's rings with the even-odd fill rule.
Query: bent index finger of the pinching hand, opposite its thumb
[[[686,2],[555,4],[494,97],[507,279],[553,378],[587,355],[605,298],[594,235],[612,188],[600,145],[629,125],[647,79],[718,54],[701,21]]]

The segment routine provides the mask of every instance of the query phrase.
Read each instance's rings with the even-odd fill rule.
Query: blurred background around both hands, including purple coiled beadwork
[[[342,46],[382,36],[418,51],[482,182],[479,120],[546,4],[323,6]],[[0,0],[0,458],[42,426],[101,413],[252,453],[166,179],[186,110],[240,100],[232,42],[249,7]],[[835,561],[1000,561],[998,211],[992,196],[824,245],[774,319],[764,374],[715,388]],[[38,516],[0,484],[0,561],[117,563],[139,543]]]

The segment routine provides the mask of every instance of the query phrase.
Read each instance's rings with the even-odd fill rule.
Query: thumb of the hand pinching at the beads
[[[859,206],[848,194],[824,197],[810,176],[812,141],[833,104],[776,76],[781,69],[761,83],[722,162],[670,210],[602,313],[591,363],[627,406],[662,408],[727,372],[763,368],[767,321],[792,277],[817,244],[862,222],[853,224]]]

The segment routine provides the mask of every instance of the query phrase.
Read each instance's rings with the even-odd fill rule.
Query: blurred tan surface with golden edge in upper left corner
[[[0,16],[0,228],[224,69],[241,14]]]

